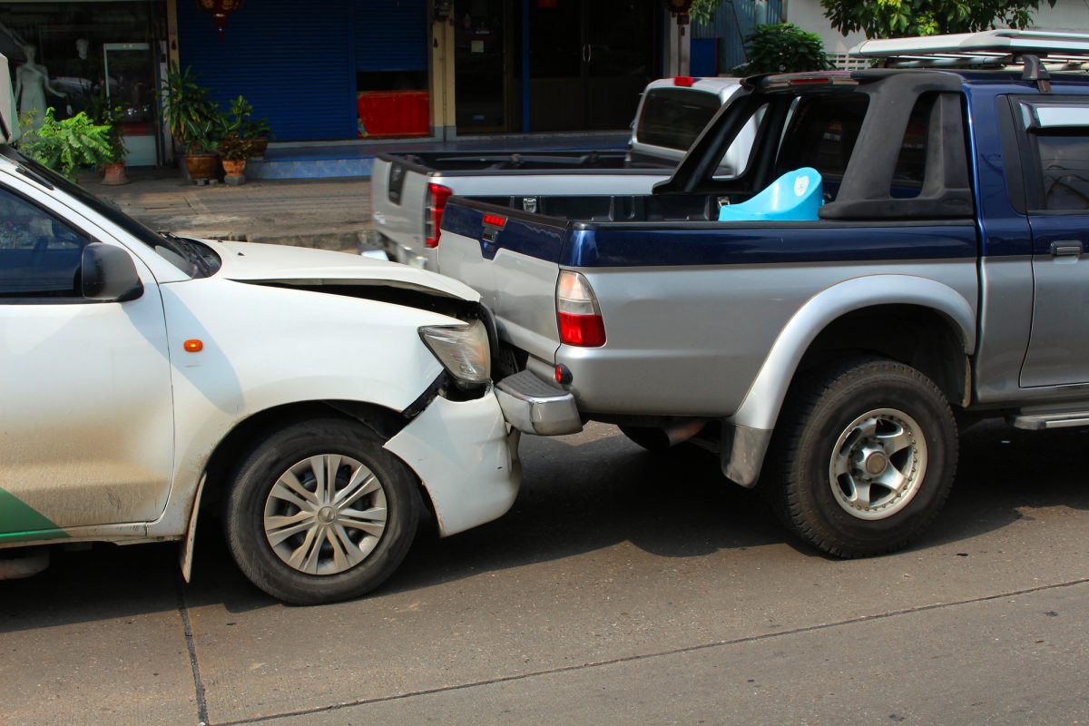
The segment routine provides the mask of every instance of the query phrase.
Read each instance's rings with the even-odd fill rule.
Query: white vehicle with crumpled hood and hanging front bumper
[[[266,592],[359,595],[423,507],[445,536],[515,499],[489,325],[456,281],[158,234],[0,145],[0,547],[181,540],[188,577],[219,507]]]

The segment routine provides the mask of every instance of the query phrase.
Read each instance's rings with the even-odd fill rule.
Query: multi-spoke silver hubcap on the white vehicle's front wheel
[[[337,575],[363,562],[386,530],[386,491],[363,463],[311,456],[284,471],[265,502],[272,551],[308,575]]]

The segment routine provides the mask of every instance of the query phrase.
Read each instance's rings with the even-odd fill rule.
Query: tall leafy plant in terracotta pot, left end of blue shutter
[[[216,144],[223,115],[192,66],[171,64],[162,89],[162,115],[171,136],[185,149],[185,168],[195,180],[216,176]]]

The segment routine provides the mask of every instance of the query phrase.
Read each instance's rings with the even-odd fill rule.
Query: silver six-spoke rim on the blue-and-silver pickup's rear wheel
[[[894,408],[862,414],[840,434],[829,463],[832,495],[859,519],[884,519],[918,493],[927,442],[910,416]]]

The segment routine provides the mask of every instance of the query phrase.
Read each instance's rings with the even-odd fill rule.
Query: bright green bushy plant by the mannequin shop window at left
[[[113,158],[109,134],[109,126],[96,124],[83,111],[71,119],[57,121],[53,109],[48,108],[41,125],[25,133],[19,148],[39,163],[76,182],[81,168],[97,168]]]

